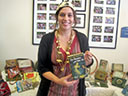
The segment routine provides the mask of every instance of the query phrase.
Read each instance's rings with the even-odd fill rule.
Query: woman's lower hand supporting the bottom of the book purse
[[[67,87],[72,86],[74,83],[77,82],[77,80],[68,81],[68,79],[71,77],[72,77],[72,74],[69,74],[65,77],[58,79],[56,83],[62,86],[67,86]]]

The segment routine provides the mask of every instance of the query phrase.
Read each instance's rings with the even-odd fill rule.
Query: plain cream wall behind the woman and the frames
[[[120,0],[120,14],[116,49],[91,48],[98,60],[112,63],[123,63],[128,70],[128,38],[120,38],[121,27],[128,26],[128,0]],[[0,69],[5,60],[30,58],[37,60],[38,45],[32,45],[32,11],[33,0],[0,0]],[[89,0],[87,0],[87,13]],[[89,18],[88,14],[86,18]],[[87,19],[88,20],[88,19]],[[88,28],[88,21],[86,22]],[[87,34],[87,29],[79,29]]]

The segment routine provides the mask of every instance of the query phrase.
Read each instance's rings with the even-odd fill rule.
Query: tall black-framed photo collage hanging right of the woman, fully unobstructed
[[[116,48],[120,0],[90,0],[91,48]]]

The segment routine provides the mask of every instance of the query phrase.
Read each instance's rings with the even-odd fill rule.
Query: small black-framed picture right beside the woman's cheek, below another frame
[[[85,14],[76,14],[77,24],[75,28],[85,28]]]

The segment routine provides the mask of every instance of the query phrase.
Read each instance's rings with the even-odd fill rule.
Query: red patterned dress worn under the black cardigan
[[[71,74],[71,70],[70,70],[70,65],[66,64],[66,68],[64,69],[63,72],[61,72],[61,66],[59,64],[57,64],[56,62],[56,53],[57,53],[57,49],[56,49],[56,37],[54,39],[54,44],[53,44],[53,50],[52,50],[52,62],[53,62],[53,68],[54,68],[54,74],[57,77],[64,77],[67,76],[69,74]],[[66,60],[66,53],[65,51],[61,48],[60,51],[62,52],[63,56],[62,56],[62,60],[65,61]],[[79,46],[79,42],[77,39],[77,36],[74,37],[72,44],[71,44],[71,49],[69,50],[69,52],[72,53],[78,53],[80,52],[80,46]],[[69,81],[72,80],[72,78],[69,79]],[[49,88],[49,93],[48,96],[78,96],[78,83],[79,80],[72,86],[70,87],[65,87],[65,86],[61,86],[58,85],[54,82],[51,82],[50,88]]]

